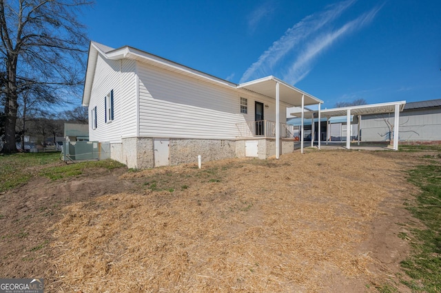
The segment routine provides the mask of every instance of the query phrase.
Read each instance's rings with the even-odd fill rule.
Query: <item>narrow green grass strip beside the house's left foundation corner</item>
[[[50,180],[59,180],[66,177],[75,177],[81,175],[85,169],[102,168],[113,170],[123,166],[125,165],[110,159],[102,161],[88,161],[46,167],[40,171],[40,175],[48,177]]]

